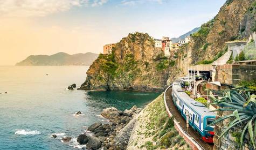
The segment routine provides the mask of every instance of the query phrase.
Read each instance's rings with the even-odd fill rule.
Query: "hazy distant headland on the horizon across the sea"
[[[16,65],[91,65],[98,57],[94,53],[79,53],[69,55],[67,53],[57,53],[53,55],[31,55]]]

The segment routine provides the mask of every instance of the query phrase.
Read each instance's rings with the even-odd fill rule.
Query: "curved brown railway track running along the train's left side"
[[[176,119],[176,121],[179,123],[182,129],[186,131],[190,137],[195,139],[195,141],[197,141],[198,144],[204,148],[204,150],[212,150],[213,144],[208,144],[204,142],[200,134],[195,130],[193,130],[191,126],[189,126],[189,129],[187,130],[185,119],[181,116],[180,112],[177,110],[177,108],[174,105],[174,102],[172,101],[171,90],[172,90],[171,88],[167,90],[167,92],[165,93],[165,99],[172,116]]]

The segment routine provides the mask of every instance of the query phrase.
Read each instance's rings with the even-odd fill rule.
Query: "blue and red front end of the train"
[[[213,143],[214,127],[215,125],[210,125],[213,121],[215,121],[216,116],[205,116],[204,117],[204,132],[202,135],[202,139],[205,142]]]

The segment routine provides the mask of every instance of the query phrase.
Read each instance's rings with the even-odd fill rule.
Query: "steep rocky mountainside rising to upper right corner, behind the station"
[[[203,24],[192,40],[177,54],[176,65],[171,69],[168,84],[174,77],[187,74],[188,66],[202,61],[213,61],[220,53],[225,53],[225,42],[248,39],[256,27],[256,2],[254,0],[229,0],[219,10],[217,16]]]

